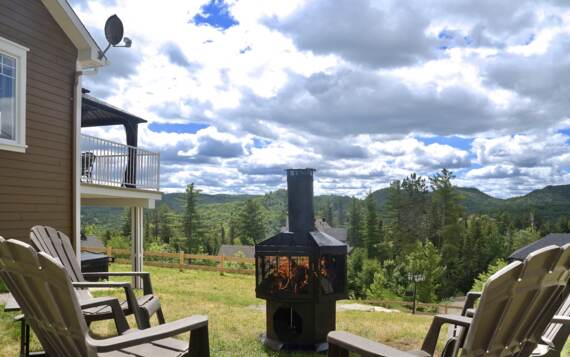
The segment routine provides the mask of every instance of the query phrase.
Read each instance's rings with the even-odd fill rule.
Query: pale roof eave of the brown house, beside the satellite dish
[[[77,48],[81,69],[105,66],[107,59],[99,59],[102,52],[85,25],[66,0],[41,0],[54,20]]]

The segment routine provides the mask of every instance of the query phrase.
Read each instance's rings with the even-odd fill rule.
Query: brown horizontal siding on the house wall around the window
[[[0,36],[30,49],[25,154],[0,150],[0,235],[36,224],[73,231],[73,93],[77,50],[39,0],[0,0]]]

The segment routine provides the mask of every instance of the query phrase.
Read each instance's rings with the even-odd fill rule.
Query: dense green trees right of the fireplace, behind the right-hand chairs
[[[357,298],[405,296],[414,279],[418,297],[432,302],[464,294],[489,265],[537,240],[532,217],[525,227],[507,212],[467,215],[453,173],[416,174],[390,184],[383,212],[370,193],[352,199],[348,213],[349,289]],[[532,216],[532,212],[530,215]],[[568,231],[568,220],[548,229]],[[517,227],[518,224],[518,227]],[[543,227],[544,228],[544,227]]]

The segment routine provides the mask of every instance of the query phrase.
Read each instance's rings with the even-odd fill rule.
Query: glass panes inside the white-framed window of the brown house
[[[1,53],[0,139],[16,140],[16,60]]]

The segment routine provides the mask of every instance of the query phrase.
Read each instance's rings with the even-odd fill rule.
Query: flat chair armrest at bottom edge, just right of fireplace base
[[[327,336],[329,343],[329,356],[348,356],[348,352],[354,352],[363,356],[382,356],[382,357],[412,357],[411,353],[404,352],[383,345],[378,342],[371,341],[367,338],[353,335],[344,331],[332,331]],[[417,356],[415,356],[417,357]]]

